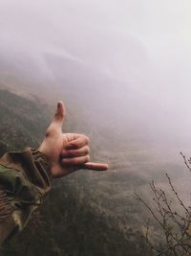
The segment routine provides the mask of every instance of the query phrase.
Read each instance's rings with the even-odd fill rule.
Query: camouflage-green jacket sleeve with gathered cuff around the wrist
[[[8,152],[0,159],[0,244],[22,230],[51,189],[50,163],[40,151]]]

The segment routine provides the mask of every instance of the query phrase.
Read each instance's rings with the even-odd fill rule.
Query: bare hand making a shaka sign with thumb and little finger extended
[[[39,147],[39,151],[51,162],[51,175],[61,177],[79,169],[106,171],[107,164],[90,162],[88,137],[78,133],[62,133],[64,116],[65,107],[58,102],[53,122]]]

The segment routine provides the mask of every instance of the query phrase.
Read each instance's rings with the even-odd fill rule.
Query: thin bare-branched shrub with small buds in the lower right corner
[[[185,155],[181,152],[180,154],[183,157],[185,166],[191,172],[191,158],[187,160]],[[172,191],[171,197],[174,200],[169,198],[164,190],[156,187],[154,181],[150,183],[150,187],[153,193],[154,206],[156,207],[151,207],[143,198],[136,195],[138,200],[150,211],[162,232],[160,244],[152,246],[152,249],[155,256],[191,255],[191,206],[185,205],[170,176],[168,174],[165,175]],[[149,226],[146,240],[149,240],[148,236]]]

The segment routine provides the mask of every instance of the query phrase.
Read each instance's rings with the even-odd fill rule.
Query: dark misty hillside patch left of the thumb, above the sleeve
[[[0,153],[38,147],[48,126],[48,106],[32,99],[0,90]]]

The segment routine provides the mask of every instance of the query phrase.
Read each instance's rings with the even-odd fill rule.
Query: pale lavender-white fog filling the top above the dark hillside
[[[1,0],[1,82],[61,97],[120,140],[189,153],[190,10],[189,0]]]

